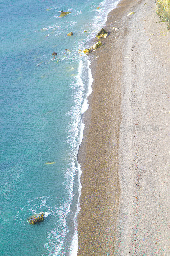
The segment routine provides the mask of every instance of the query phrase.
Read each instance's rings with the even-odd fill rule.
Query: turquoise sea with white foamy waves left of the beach
[[[0,0],[0,255],[77,255],[77,154],[93,81],[82,50],[117,3]],[[29,224],[39,212],[44,221]]]

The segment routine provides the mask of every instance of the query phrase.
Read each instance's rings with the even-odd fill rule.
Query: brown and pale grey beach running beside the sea
[[[107,19],[88,55],[77,255],[168,256],[170,33],[152,0],[120,1]]]

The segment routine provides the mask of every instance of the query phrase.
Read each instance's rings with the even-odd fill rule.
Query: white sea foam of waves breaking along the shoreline
[[[89,36],[86,36],[84,39],[84,42],[87,42],[87,40],[91,39],[93,36],[96,35],[97,31],[104,25],[104,23],[107,20],[108,13],[115,8],[118,1],[109,3],[107,0],[104,0],[100,2],[98,6],[100,6],[100,9],[96,9],[97,6],[92,6],[92,12],[95,13],[94,18],[92,19],[92,25],[90,26],[91,33]],[[94,9],[95,8],[95,9]],[[74,11],[74,10],[70,10]],[[79,15],[81,14],[81,11],[76,11],[71,14],[71,16]],[[58,18],[57,16],[55,16]],[[50,30],[59,28],[57,30],[57,34],[61,34],[60,28],[64,26],[64,28],[70,28],[73,27],[77,21],[60,21],[59,26],[56,24],[53,24],[49,26],[48,28],[42,28],[42,30]],[[40,31],[40,30],[39,30]],[[50,32],[50,31],[48,31]],[[71,61],[76,60],[77,62],[77,55],[75,52],[77,49],[84,48],[85,44],[79,43],[75,46],[75,49],[72,49],[70,51],[70,54],[66,56],[66,58],[71,58]],[[63,52],[64,53],[64,52]],[[44,57],[46,58],[46,56]],[[61,60],[65,60],[66,58],[61,58]],[[76,204],[76,211],[74,214],[74,235],[72,239],[72,243],[70,246],[70,253],[69,256],[76,256],[77,255],[77,248],[78,248],[78,231],[77,231],[77,215],[80,211],[80,204],[79,204],[79,198],[81,195],[81,183],[80,183],[80,176],[81,176],[81,166],[77,162],[77,154],[78,154],[78,148],[81,144],[81,141],[83,139],[83,130],[84,130],[84,124],[81,120],[81,115],[85,113],[85,111],[88,109],[88,100],[87,97],[92,92],[92,73],[90,69],[90,61],[87,59],[86,56],[79,56],[80,62],[78,67],[78,74],[75,77],[73,77],[74,83],[70,85],[70,90],[73,92],[73,99],[74,99],[74,106],[70,109],[70,111],[67,113],[67,115],[70,116],[70,122],[68,125],[67,133],[68,133],[68,140],[67,142],[70,144],[70,154],[69,154],[69,163],[67,165],[67,170],[65,172],[65,182],[63,183],[65,185],[65,188],[67,190],[68,199],[64,201],[63,198],[60,198],[60,206],[59,207],[49,207],[48,206],[48,200],[50,198],[48,197],[40,197],[30,200],[27,204],[27,208],[30,212],[37,212],[41,210],[46,210],[46,214],[54,215],[57,217],[57,223],[56,228],[51,230],[51,232],[48,234],[47,237],[47,243],[45,244],[45,247],[48,250],[48,256],[59,256],[59,255],[65,255],[62,254],[63,247],[64,247],[64,240],[66,238],[66,235],[68,233],[68,227],[67,227],[67,221],[66,218],[70,212],[70,207],[73,202],[73,185],[74,185],[74,179],[75,174],[78,173],[78,200]],[[60,61],[61,61],[60,60]],[[87,76],[88,73],[88,76]],[[88,78],[87,78],[88,77]],[[87,81],[88,82],[87,82]],[[53,197],[53,196],[51,196]],[[40,209],[41,208],[41,209]],[[19,217],[19,212],[18,212]],[[45,215],[46,217],[46,215]]]

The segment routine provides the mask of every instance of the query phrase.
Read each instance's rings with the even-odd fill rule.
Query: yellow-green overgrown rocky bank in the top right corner
[[[168,23],[167,30],[170,30],[170,1],[158,0],[156,4],[156,12],[162,21]]]

